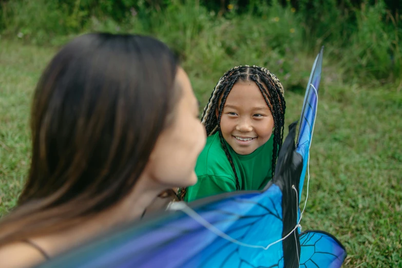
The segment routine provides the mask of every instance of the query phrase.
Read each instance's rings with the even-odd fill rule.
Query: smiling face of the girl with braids
[[[216,113],[218,116],[218,110]],[[254,82],[233,86],[223,106],[220,127],[223,138],[239,155],[251,154],[271,138],[274,119]]]

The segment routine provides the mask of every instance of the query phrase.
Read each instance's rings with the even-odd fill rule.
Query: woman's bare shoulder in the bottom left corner
[[[0,247],[2,268],[26,268],[45,260],[36,248],[27,243],[15,242]]]

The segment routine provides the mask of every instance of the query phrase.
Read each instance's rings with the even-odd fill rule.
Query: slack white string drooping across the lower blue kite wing
[[[296,192],[296,202],[297,202],[297,206],[298,207],[298,200],[297,200],[297,190],[295,188],[295,185],[292,185],[292,188],[295,190]],[[170,205],[170,209],[173,210],[182,210],[185,214],[187,214],[189,217],[193,218],[194,220],[196,220],[198,223],[200,223],[201,225],[203,225],[205,228],[209,229],[209,231],[215,233],[217,236],[230,241],[232,243],[238,244],[240,246],[245,246],[245,247],[251,247],[251,248],[261,248],[262,250],[267,250],[270,246],[279,243],[280,241],[286,239],[288,236],[290,236],[293,232],[296,231],[297,227],[299,227],[300,225],[297,224],[291,232],[289,232],[289,234],[287,234],[285,237],[272,242],[271,244],[267,245],[267,246],[262,246],[262,245],[252,245],[252,244],[247,244],[247,243],[243,243],[237,239],[234,239],[230,236],[228,236],[227,234],[223,233],[220,229],[218,229],[217,227],[215,227],[214,225],[210,224],[208,221],[206,221],[204,218],[202,218],[201,215],[199,215],[194,209],[192,209],[191,207],[189,207],[185,202],[180,201],[180,202],[173,202]],[[297,209],[296,209],[296,213],[297,213]],[[295,232],[296,234],[296,232]],[[296,240],[296,245],[297,245],[297,240]],[[296,246],[297,249],[297,246]],[[299,256],[299,253],[297,253],[297,256]]]

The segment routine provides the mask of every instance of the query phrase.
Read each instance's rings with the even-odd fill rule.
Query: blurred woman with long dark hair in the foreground
[[[197,182],[198,103],[174,54],[151,37],[76,38],[42,74],[31,113],[28,181],[0,222],[2,267],[41,263]]]

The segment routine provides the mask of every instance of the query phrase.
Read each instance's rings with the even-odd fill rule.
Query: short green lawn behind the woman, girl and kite
[[[54,52],[0,40],[0,216],[23,187],[32,91]],[[193,67],[190,79],[205,104],[219,77],[183,64]],[[402,267],[402,92],[331,82],[325,69],[322,76],[303,230],[335,235],[347,247],[344,267]],[[289,125],[303,94],[286,91],[285,98]]]

